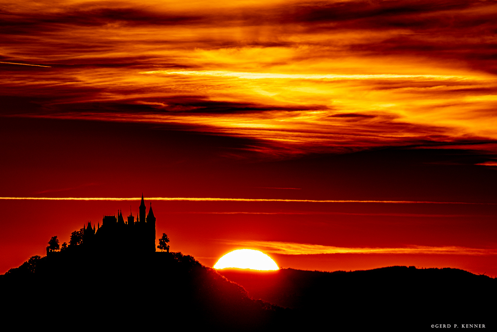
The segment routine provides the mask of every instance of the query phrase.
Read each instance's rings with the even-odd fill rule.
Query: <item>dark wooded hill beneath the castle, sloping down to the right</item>
[[[31,259],[2,275],[5,317],[19,326],[152,330],[174,322],[253,330],[271,327],[288,311],[251,300],[238,284],[181,253],[72,251]]]

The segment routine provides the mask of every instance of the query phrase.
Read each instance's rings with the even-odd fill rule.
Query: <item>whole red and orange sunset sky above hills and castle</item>
[[[0,0],[0,273],[143,193],[207,266],[249,248],[496,277],[496,13]]]

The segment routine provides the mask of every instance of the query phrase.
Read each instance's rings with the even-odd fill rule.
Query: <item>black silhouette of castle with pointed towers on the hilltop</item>
[[[124,221],[122,210],[118,210],[117,217],[103,216],[102,225],[98,222],[96,228],[94,223],[92,227],[91,221],[88,221],[86,227],[83,225],[83,241],[78,247],[98,251],[155,252],[156,218],[152,203],[148,214],[146,209],[142,194],[136,221],[131,212]],[[48,252],[47,247],[47,255]]]

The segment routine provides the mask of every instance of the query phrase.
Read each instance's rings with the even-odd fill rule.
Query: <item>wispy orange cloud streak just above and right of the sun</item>
[[[254,248],[265,253],[283,255],[316,254],[445,254],[445,255],[495,255],[497,249],[468,248],[459,246],[420,246],[411,245],[397,248],[382,247],[336,247],[320,244],[278,242],[278,241],[221,241],[245,248]]]

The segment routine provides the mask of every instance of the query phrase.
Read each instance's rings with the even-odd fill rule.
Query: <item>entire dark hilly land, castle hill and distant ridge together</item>
[[[248,294],[181,253],[97,255],[77,246],[33,257],[0,276],[3,313],[19,326],[55,323],[76,330],[154,330],[158,324],[229,331],[495,328],[497,280],[463,270],[393,266],[221,273]]]

